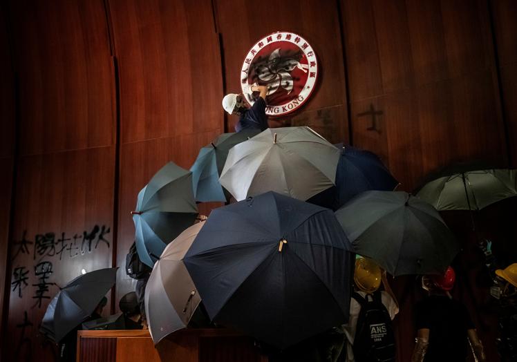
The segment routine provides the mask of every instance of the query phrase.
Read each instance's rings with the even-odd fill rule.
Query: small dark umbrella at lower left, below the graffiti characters
[[[117,268],[99,269],[77,276],[50,301],[40,330],[55,342],[90,316],[113,285]]]

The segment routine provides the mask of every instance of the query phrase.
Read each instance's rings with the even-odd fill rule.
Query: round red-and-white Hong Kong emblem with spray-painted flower
[[[254,103],[250,86],[267,86],[267,115],[296,111],[309,99],[318,77],[318,61],[306,39],[292,32],[275,32],[254,44],[244,59],[241,87]]]

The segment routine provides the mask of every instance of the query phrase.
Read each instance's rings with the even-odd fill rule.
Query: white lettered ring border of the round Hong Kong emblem
[[[274,43],[280,42],[288,42],[290,44],[294,44],[295,46],[297,46],[297,48],[299,48],[299,50],[301,50],[301,52],[303,53],[303,57],[301,61],[299,61],[299,64],[302,68],[307,67],[306,69],[308,74],[306,82],[305,84],[303,84],[303,88],[296,97],[290,99],[289,102],[283,104],[274,104],[266,106],[265,113],[272,117],[280,117],[297,111],[301,106],[303,106],[303,104],[307,102],[307,100],[312,95],[312,92],[314,91],[318,79],[318,60],[316,54],[314,53],[314,48],[310,46],[308,41],[306,41],[306,39],[304,39],[300,35],[297,35],[294,32],[273,32],[272,34],[266,35],[262,39],[259,39],[259,41],[256,41],[254,46],[252,46],[252,48],[247,52],[247,55],[243,62],[240,77],[241,88],[248,103],[254,103],[254,101],[246,94],[246,88],[248,85],[250,85],[250,68],[253,64],[254,59],[258,55],[261,55],[261,50],[266,48],[266,46],[270,46]],[[303,64],[302,61],[304,62]],[[259,84],[262,83],[259,82]]]

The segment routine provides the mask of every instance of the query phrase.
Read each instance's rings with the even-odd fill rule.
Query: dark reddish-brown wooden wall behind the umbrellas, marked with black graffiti
[[[374,151],[402,189],[413,190],[450,162],[517,166],[515,1],[12,0],[0,10],[6,361],[53,361],[54,347],[37,332],[48,299],[35,305],[41,288],[35,267],[53,265],[46,283],[55,285],[46,296],[81,269],[123,267],[138,191],[167,161],[188,169],[201,146],[232,131],[236,119],[223,113],[220,99],[238,91],[245,53],[270,32],[298,32],[321,66],[310,101],[279,122],[309,125],[331,142]],[[379,114],[368,131],[372,116],[360,114],[372,108]],[[491,212],[494,223],[502,220]],[[464,222],[455,225],[458,234]],[[93,246],[82,247],[84,231],[91,234],[96,225]],[[101,240],[95,248],[102,227],[109,246]],[[35,245],[46,233],[55,240],[65,233],[71,249],[57,254],[63,244]],[[24,240],[32,242],[28,249]],[[473,240],[462,242],[469,249]],[[15,271],[28,271],[21,291],[12,289]],[[134,283],[119,272],[112,312]],[[414,278],[394,285],[403,307],[400,361],[408,361],[412,305],[421,295]],[[458,298],[478,296],[466,290],[458,288]],[[23,327],[25,312],[32,325]],[[493,339],[485,319],[476,316],[483,336]],[[493,361],[495,347],[488,344]]]

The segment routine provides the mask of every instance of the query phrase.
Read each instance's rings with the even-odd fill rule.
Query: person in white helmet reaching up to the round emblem
[[[259,92],[253,106],[250,108],[244,101],[242,94],[229,93],[223,98],[223,108],[230,115],[238,115],[239,120],[235,125],[235,131],[241,132],[249,129],[264,131],[267,127],[267,115],[265,115],[265,95],[267,86],[250,86],[250,92]]]

